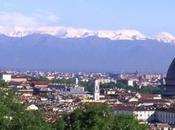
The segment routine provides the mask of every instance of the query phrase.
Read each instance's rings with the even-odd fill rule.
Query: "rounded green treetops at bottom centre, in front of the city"
[[[146,130],[129,115],[113,115],[106,105],[91,104],[65,115],[56,123],[57,130]],[[61,128],[61,129],[60,129]]]

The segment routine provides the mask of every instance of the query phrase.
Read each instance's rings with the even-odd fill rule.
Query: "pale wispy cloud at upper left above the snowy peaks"
[[[54,14],[35,14],[27,16],[19,12],[0,12],[0,26],[14,27],[39,27],[57,23],[59,18]]]

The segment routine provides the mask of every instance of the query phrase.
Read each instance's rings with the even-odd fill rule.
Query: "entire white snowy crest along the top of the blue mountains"
[[[89,30],[81,28],[66,27],[14,27],[5,29],[0,27],[0,33],[9,37],[23,37],[31,34],[48,34],[58,38],[86,38],[96,36],[99,38],[108,38],[110,40],[157,40],[165,43],[175,43],[175,36],[168,32],[161,32],[155,36],[147,36],[142,32],[133,29],[121,30]]]

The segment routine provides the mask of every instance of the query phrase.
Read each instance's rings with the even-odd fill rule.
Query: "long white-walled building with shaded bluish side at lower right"
[[[134,115],[141,122],[158,122],[175,125],[175,110],[173,108],[156,110],[151,109],[151,107],[116,106],[113,112],[114,114]]]

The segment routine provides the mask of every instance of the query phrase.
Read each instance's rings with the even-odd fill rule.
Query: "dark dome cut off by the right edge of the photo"
[[[165,81],[166,85],[163,87],[162,95],[168,97],[175,96],[175,59],[168,69]]]

